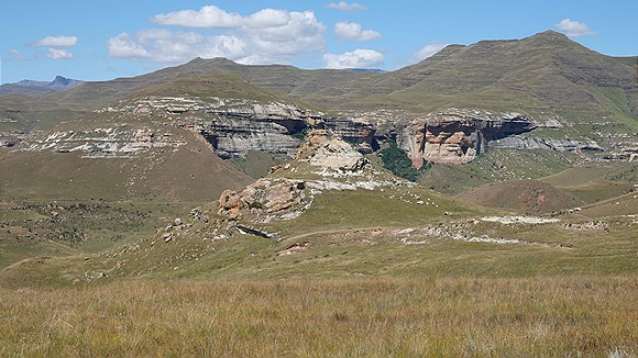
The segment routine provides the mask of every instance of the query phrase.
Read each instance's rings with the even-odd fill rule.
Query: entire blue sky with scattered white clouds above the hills
[[[447,44],[546,30],[605,55],[632,56],[637,14],[637,0],[8,0],[0,80],[109,80],[197,56],[394,70]]]

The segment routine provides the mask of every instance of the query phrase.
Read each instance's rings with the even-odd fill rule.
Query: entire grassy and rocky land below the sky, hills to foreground
[[[638,354],[638,57],[63,79],[0,96],[0,356]]]

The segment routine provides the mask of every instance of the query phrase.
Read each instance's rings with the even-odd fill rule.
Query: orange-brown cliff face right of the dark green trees
[[[491,143],[536,128],[518,113],[449,110],[417,119],[397,131],[397,144],[408,152],[415,167],[424,160],[468,163],[490,148]]]

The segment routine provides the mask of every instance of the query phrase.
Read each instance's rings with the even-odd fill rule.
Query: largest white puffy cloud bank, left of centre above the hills
[[[191,14],[194,19],[184,18]],[[184,27],[217,27],[220,33],[141,30],[108,41],[109,55],[161,63],[194,57],[226,57],[242,64],[292,64],[296,56],[324,48],[326,25],[311,11],[263,9],[248,16],[216,7],[184,10],[152,18],[152,22]],[[226,29],[224,29],[226,27]],[[197,31],[197,30],[196,30]]]

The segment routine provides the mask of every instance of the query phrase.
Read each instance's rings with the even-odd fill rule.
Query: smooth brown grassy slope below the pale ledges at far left
[[[0,156],[4,199],[210,201],[252,181],[186,131],[177,150],[139,158],[81,158],[78,153],[21,152]]]

